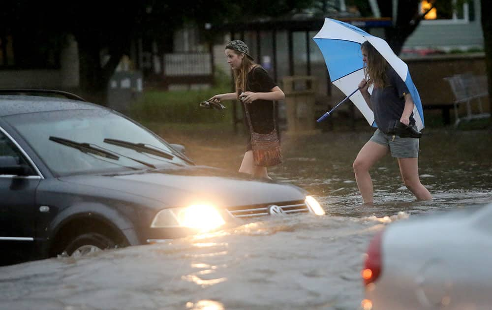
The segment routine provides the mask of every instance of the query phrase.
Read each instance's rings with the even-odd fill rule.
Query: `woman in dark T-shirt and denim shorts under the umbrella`
[[[362,147],[353,163],[357,186],[365,204],[373,203],[373,186],[369,169],[383,156],[391,153],[398,160],[405,186],[420,200],[431,200],[429,190],[420,183],[418,153],[419,139],[392,134],[398,122],[415,124],[414,102],[407,86],[379,52],[365,41],[361,46],[365,78],[359,89],[374,113],[378,129]],[[372,94],[368,88],[373,85]]]

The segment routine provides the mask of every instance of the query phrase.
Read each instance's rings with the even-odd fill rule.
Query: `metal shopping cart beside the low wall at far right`
[[[461,120],[470,121],[491,116],[490,113],[484,113],[482,107],[482,98],[489,95],[486,75],[463,73],[446,77],[444,80],[449,83],[455,96],[455,101],[453,102],[455,126],[458,126]],[[460,118],[458,107],[461,103],[466,106],[466,116]],[[475,113],[477,109],[473,109],[474,104],[477,105],[479,113]]]

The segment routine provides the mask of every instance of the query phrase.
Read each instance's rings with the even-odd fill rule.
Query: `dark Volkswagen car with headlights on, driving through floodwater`
[[[118,112],[69,93],[27,93],[0,91],[1,264],[148,244],[243,217],[324,214],[299,187],[196,166]]]

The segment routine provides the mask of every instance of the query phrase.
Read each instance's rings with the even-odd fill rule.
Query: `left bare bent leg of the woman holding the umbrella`
[[[355,158],[353,164],[355,180],[357,181],[357,186],[359,186],[362,200],[365,204],[372,204],[373,202],[373,187],[369,169],[376,161],[388,154],[388,152],[388,147],[368,141],[359,151],[357,158]]]

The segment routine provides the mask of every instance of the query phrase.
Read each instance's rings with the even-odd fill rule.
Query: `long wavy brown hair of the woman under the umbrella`
[[[361,51],[366,51],[368,54],[368,63],[364,62],[364,77],[369,81],[369,85],[374,84],[378,88],[387,86],[386,70],[388,69],[388,62],[369,41],[362,43]]]

